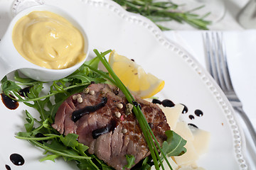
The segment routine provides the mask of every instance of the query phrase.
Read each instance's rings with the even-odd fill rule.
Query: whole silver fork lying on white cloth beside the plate
[[[203,40],[206,45],[206,55],[208,60],[208,71],[212,75],[213,79],[218,83],[224,94],[228,97],[234,110],[240,114],[242,120],[244,120],[247,129],[250,132],[254,145],[256,147],[256,132],[253,128],[250,119],[246,113],[242,110],[242,102],[235,94],[233,85],[228,72],[227,56],[225,52],[225,45],[223,42],[223,33],[211,32],[204,33]]]

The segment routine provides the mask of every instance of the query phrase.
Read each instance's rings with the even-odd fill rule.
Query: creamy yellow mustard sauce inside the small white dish
[[[49,11],[33,11],[19,19],[12,40],[22,57],[48,69],[72,67],[85,58],[82,33]]]

